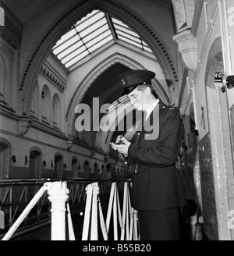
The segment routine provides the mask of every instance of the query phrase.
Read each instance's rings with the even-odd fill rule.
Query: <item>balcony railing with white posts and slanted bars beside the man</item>
[[[9,240],[51,223],[51,240],[65,240],[66,224],[69,239],[74,240],[71,214],[84,211],[82,240],[137,240],[137,212],[131,208],[130,187],[131,180],[0,180],[5,215],[5,229],[0,229],[0,237]],[[101,204],[106,202],[108,210],[103,212]],[[69,213],[68,223],[65,212]]]

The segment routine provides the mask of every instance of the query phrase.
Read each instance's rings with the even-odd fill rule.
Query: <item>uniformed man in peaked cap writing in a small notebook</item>
[[[136,165],[132,204],[138,212],[140,239],[180,240],[179,209],[186,204],[186,195],[176,159],[184,128],[178,110],[155,94],[154,76],[141,69],[119,76],[122,95],[127,94],[131,105],[145,113],[146,121],[131,142],[119,136],[111,144]],[[152,124],[155,129],[149,130]]]

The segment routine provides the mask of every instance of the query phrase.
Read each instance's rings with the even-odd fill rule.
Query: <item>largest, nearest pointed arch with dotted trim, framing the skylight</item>
[[[172,80],[177,83],[178,77],[172,59],[165,48],[164,42],[146,21],[141,20],[131,9],[126,9],[124,6],[112,0],[105,0],[92,5],[89,0],[75,3],[70,9],[66,9],[62,16],[41,34],[40,41],[35,44],[34,49],[27,59],[27,63],[23,68],[22,80],[20,83],[20,112],[29,113],[29,102],[32,94],[32,85],[35,83],[40,72],[44,59],[47,57],[55,42],[69,29],[69,27],[80,20],[82,16],[88,12],[98,8],[104,10],[124,21],[130,27],[137,31],[138,34],[151,47],[154,54],[160,62],[161,68],[165,73],[166,80]],[[24,100],[25,99],[25,100]]]

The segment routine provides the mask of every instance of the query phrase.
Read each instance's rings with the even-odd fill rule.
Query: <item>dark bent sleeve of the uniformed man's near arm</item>
[[[179,153],[183,137],[183,123],[179,112],[170,110],[165,117],[165,123],[161,127],[160,137],[150,143],[151,146],[140,147],[130,144],[128,160],[140,165],[155,165],[155,167],[173,165]]]

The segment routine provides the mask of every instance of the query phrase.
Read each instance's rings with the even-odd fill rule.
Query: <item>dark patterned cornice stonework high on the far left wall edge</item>
[[[15,27],[7,18],[5,18],[5,26],[0,26],[0,36],[15,50],[20,48],[22,31]]]

